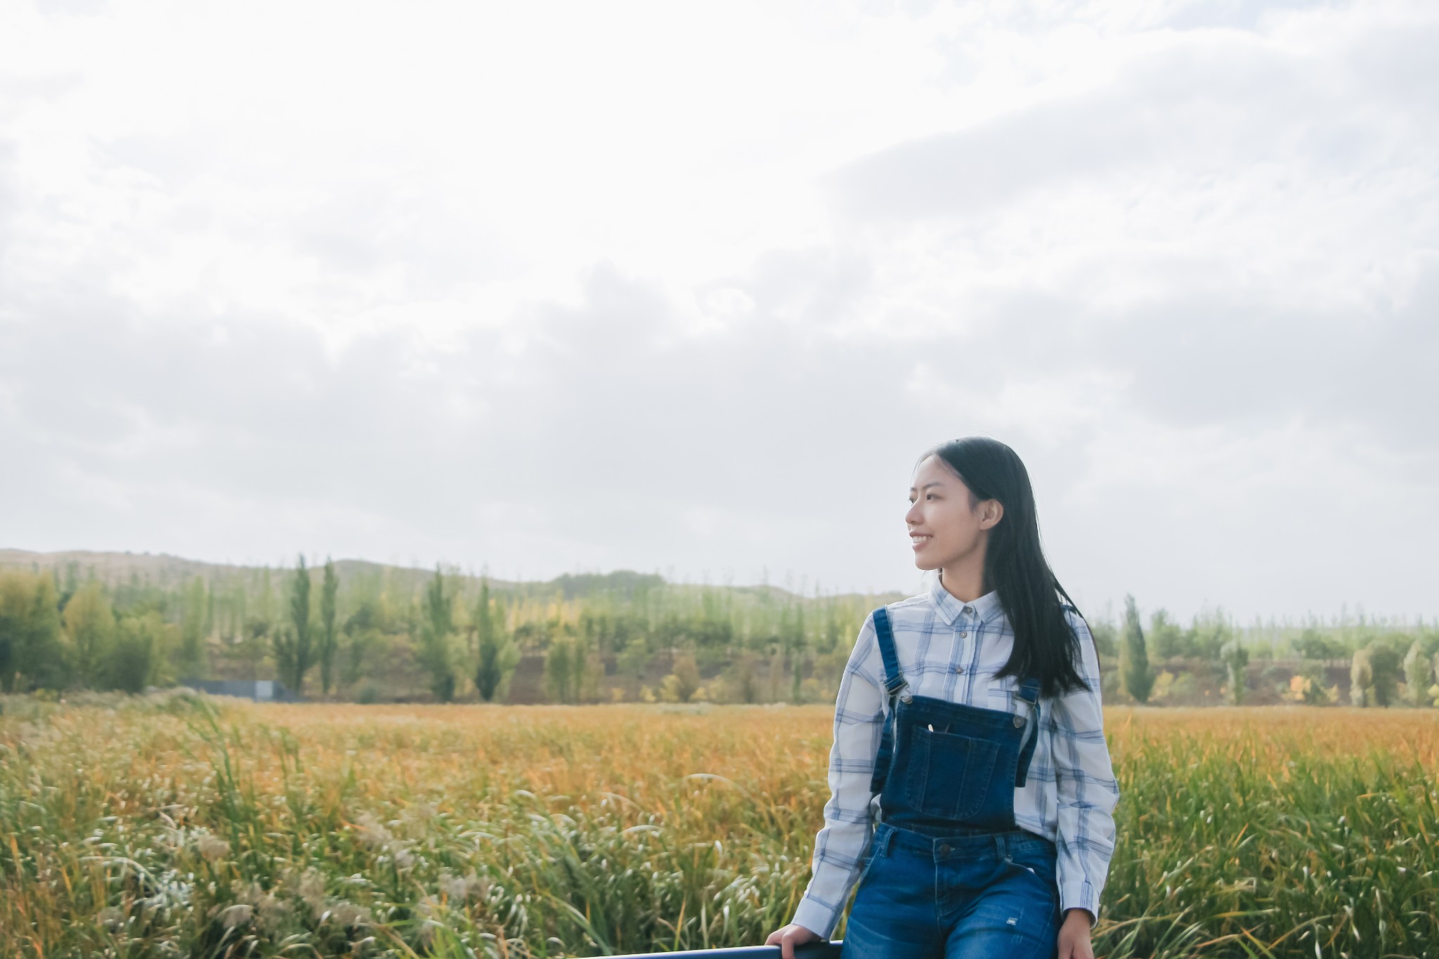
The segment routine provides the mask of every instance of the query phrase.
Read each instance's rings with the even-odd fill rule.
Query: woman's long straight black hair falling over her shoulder
[[[968,436],[928,450],[922,463],[937,456],[970,489],[970,509],[979,500],[997,499],[1004,506],[989,531],[984,552],[984,589],[997,589],[999,602],[1014,630],[1014,648],[996,676],[1033,676],[1040,694],[1050,697],[1088,689],[1079,676],[1079,637],[1065,620],[1063,595],[1039,546],[1039,518],[1029,472],[1014,450],[986,436]]]

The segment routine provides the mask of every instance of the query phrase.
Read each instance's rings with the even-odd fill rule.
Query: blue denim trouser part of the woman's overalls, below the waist
[[[1052,959],[1055,844],[1025,831],[930,837],[886,822],[845,926],[842,959]]]

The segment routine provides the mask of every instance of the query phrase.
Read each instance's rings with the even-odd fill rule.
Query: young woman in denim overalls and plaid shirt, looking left
[[[928,592],[875,610],[835,703],[830,799],[794,922],[846,959],[1094,959],[1120,789],[1089,627],[996,440],[930,450],[905,522]]]

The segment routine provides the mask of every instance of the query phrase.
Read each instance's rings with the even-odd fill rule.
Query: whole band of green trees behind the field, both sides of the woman
[[[59,575],[56,575],[59,574]],[[659,575],[504,584],[355,562],[186,581],[0,569],[0,689],[141,692],[279,680],[308,699],[827,702],[865,614],[899,598]],[[1439,631],[1344,617],[1189,625],[1086,610],[1108,702],[1435,705]]]

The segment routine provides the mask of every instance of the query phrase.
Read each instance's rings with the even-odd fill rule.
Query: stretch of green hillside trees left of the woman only
[[[351,564],[354,565],[354,564]],[[165,587],[76,564],[0,569],[0,686],[140,692],[275,679],[311,697],[524,702],[832,697],[889,595],[689,587],[653,574],[491,584],[436,568],[245,569]]]

